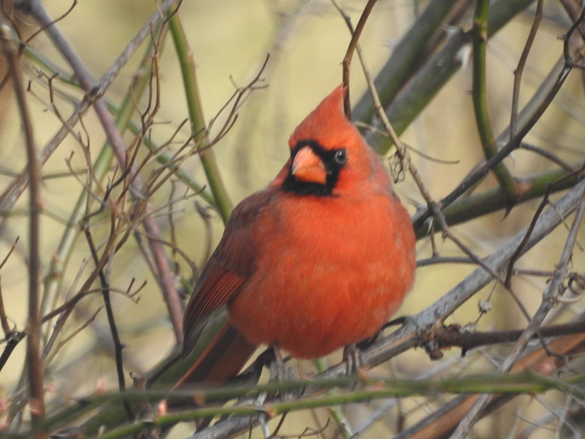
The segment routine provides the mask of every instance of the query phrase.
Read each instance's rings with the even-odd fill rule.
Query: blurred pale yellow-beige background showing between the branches
[[[339,1],[339,5],[356,25],[366,2]],[[466,2],[460,2],[465,4]],[[473,3],[473,2],[469,2]],[[559,35],[567,32],[571,20],[558,1],[544,2],[544,16],[522,76],[520,105],[534,94],[549,71],[562,56],[563,41]],[[401,36],[411,28],[415,19],[424,11],[427,2],[416,0],[383,0],[374,6],[360,45],[364,60],[370,72],[375,75],[387,61]],[[70,0],[53,0],[45,4],[53,18],[63,15],[70,7]],[[494,135],[499,135],[510,123],[510,108],[514,70],[524,48],[526,37],[534,19],[535,6],[529,6],[518,13],[510,23],[490,38],[487,45],[487,93],[491,123]],[[111,66],[113,60],[133,38],[144,21],[156,9],[156,2],[143,0],[84,0],[78,2],[66,17],[59,22],[61,32],[71,42],[74,50],[94,79],[98,79]],[[467,6],[465,17],[460,20],[464,30],[472,25],[473,6]],[[192,57],[197,66],[197,80],[206,121],[211,121],[226,104],[236,86],[244,86],[254,78],[264,63],[266,54],[270,59],[261,74],[261,83],[266,86],[254,91],[238,109],[238,119],[233,128],[214,146],[219,171],[230,200],[235,205],[240,200],[266,186],[276,175],[288,157],[288,136],[305,115],[322,98],[341,82],[341,62],[345,55],[350,33],[339,12],[328,0],[273,1],[273,0],[185,0],[180,7],[180,18],[188,35]],[[30,35],[36,26],[24,17],[25,32]],[[59,67],[60,75],[69,77],[71,70],[54,49],[44,33],[29,42],[30,49],[42,59],[50,60]],[[136,67],[144,48],[137,51],[128,65],[109,87],[106,97],[118,104],[126,93],[129,83],[136,74]],[[470,90],[472,68],[469,61],[470,47],[464,45],[458,57],[462,64],[435,98],[401,135],[402,141],[425,156],[412,153],[412,162],[421,174],[435,200],[450,193],[483,157],[483,150],[477,135]],[[50,89],[46,78],[39,77],[38,60],[23,56],[25,80],[30,80],[27,98],[39,148],[54,136],[61,127],[56,112],[67,118],[72,102],[82,98],[82,92],[63,83],[55,83],[57,96],[49,105]],[[46,71],[46,70],[45,70]],[[46,72],[50,76],[50,73]],[[366,81],[357,56],[352,64],[350,98],[357,102],[367,92]],[[22,172],[26,164],[22,138],[22,124],[17,107],[9,91],[0,95],[0,190],[5,190]],[[148,95],[148,92],[146,93]],[[146,108],[147,97],[137,104]],[[165,150],[172,152],[188,139],[188,124],[181,126],[188,117],[185,92],[176,53],[170,38],[161,46],[160,53],[160,109],[155,124],[148,136],[156,145],[163,145],[171,138]],[[225,121],[226,112],[217,116],[211,126],[211,138]],[[583,76],[573,71],[558,96],[548,108],[525,141],[555,153],[569,163],[583,162],[585,140],[585,108],[583,100]],[[136,119],[138,120],[138,119]],[[369,121],[362,121],[369,122]],[[174,135],[177,131],[178,133]],[[85,239],[77,238],[68,260],[60,267],[62,272],[50,272],[59,242],[70,218],[73,205],[82,193],[82,184],[87,179],[87,155],[75,139],[79,135],[87,144],[91,159],[97,157],[105,142],[105,134],[95,113],[89,111],[82,118],[82,126],[76,125],[56,152],[43,167],[43,215],[41,228],[42,276],[45,282],[58,278],[56,303],[59,306],[67,297],[73,296],[93,262]],[[174,137],[173,137],[174,136]],[[126,133],[131,143],[134,136]],[[388,156],[392,153],[388,153]],[[86,153],[87,154],[87,153]],[[139,157],[146,157],[144,150]],[[432,159],[429,159],[432,157]],[[70,163],[69,165],[67,164]],[[506,159],[511,173],[516,177],[553,169],[541,156],[526,151],[514,153]],[[160,166],[149,159],[144,175]],[[77,177],[71,169],[79,171]],[[196,155],[181,164],[181,169],[202,186],[207,182],[201,163]],[[115,177],[113,177],[115,175]],[[109,179],[117,178],[109,173]],[[177,246],[184,252],[174,262],[176,282],[192,282],[198,275],[194,267],[201,267],[208,255],[209,237],[214,248],[221,237],[221,217],[214,210],[207,210],[209,219],[198,213],[195,200],[206,208],[200,197],[183,198],[187,187],[177,179],[164,184],[152,200],[160,207],[156,214],[162,234],[171,236],[171,222]],[[481,181],[476,191],[494,187],[497,181],[491,175]],[[407,176],[396,185],[396,191],[409,212],[414,214],[424,199],[414,180]],[[99,192],[99,191],[98,191]],[[555,194],[552,198],[558,198]],[[168,207],[170,198],[178,201]],[[473,221],[452,228],[453,234],[463,241],[480,257],[490,255],[510,238],[529,224],[541,198],[514,207],[508,215],[503,210],[483,215]],[[97,211],[95,205],[91,211]],[[169,214],[171,212],[171,214]],[[22,330],[26,325],[27,291],[27,195],[20,197],[9,212],[3,212],[5,221],[0,243],[0,259],[11,249],[19,237],[15,252],[0,270],[2,296],[6,314],[11,325]],[[172,221],[171,221],[172,218]],[[109,231],[109,214],[97,212],[91,218],[92,231],[96,242],[102,242]],[[569,221],[570,224],[570,221]],[[462,252],[448,240],[436,235],[438,251],[442,256],[461,256]],[[579,242],[585,245],[581,231]],[[518,266],[542,270],[553,270],[566,239],[566,229],[559,227],[542,241],[528,255],[521,258]],[[418,242],[418,259],[428,258],[432,249],[428,238]],[[190,265],[192,262],[194,265]],[[575,248],[572,270],[583,272],[585,258],[583,249]],[[473,265],[442,264],[419,268],[414,289],[407,297],[397,315],[415,314],[429,306],[464,276],[475,268]],[[112,294],[116,323],[125,349],[123,350],[125,372],[141,375],[149,371],[174,348],[175,340],[168,321],[166,306],[161,298],[160,288],[144,262],[136,240],[130,236],[116,254],[111,270],[113,289],[126,291],[132,279],[136,284],[146,281],[146,286],[130,300],[124,294]],[[541,303],[542,292],[548,277],[517,276],[514,290],[529,314],[534,313]],[[98,288],[98,284],[95,284]],[[187,294],[188,287],[185,287]],[[491,311],[480,317],[479,300],[489,300]],[[58,341],[66,341],[87,322],[102,304],[101,296],[90,294],[75,306]],[[581,302],[564,305],[555,310],[549,323],[567,321],[583,308]],[[468,303],[460,307],[447,323],[466,325],[476,323],[480,330],[505,330],[524,328],[526,320],[513,304],[510,294],[500,286],[491,283]],[[53,321],[54,323],[54,321]],[[464,359],[459,359],[459,349],[446,352],[445,358],[432,362],[422,349],[405,352],[380,368],[380,373],[390,373],[395,378],[416,378],[421,376],[447,377],[469,373],[492,371],[494,363],[505,355],[505,348],[476,349]],[[0,392],[10,399],[17,389],[23,371],[25,342],[20,342],[0,372]],[[340,360],[333,355],[328,362]],[[578,363],[578,362],[577,362]],[[302,371],[301,376],[315,373],[311,362],[294,362]],[[581,369],[582,371],[582,369]],[[94,392],[117,389],[113,363],[112,338],[105,313],[95,316],[84,330],[64,343],[57,355],[46,364],[46,385],[50,387],[49,407],[59,407],[71,397],[90,395]],[[445,395],[433,398],[409,398],[391,407],[387,414],[367,430],[363,437],[390,437],[402,423],[410,424],[424,416],[426,411],[445,401]],[[345,408],[352,426],[357,426],[371,410],[384,402],[353,404]],[[484,419],[474,429],[473,437],[559,437],[559,414],[551,407],[562,409],[566,395],[548,392],[545,396],[523,396],[508,403],[504,409]],[[301,434],[309,426],[319,430],[326,424],[328,410],[301,411],[290,414],[283,426],[283,434]],[[532,422],[545,419],[553,413],[550,422],[532,429]],[[2,415],[2,413],[0,413]],[[4,417],[6,415],[4,414]],[[276,424],[275,424],[276,425]],[[182,430],[181,430],[182,429]],[[179,426],[170,437],[190,434],[192,426]],[[259,432],[254,434],[261,437]],[[524,436],[522,436],[524,434]],[[338,437],[333,423],[325,428],[322,437]]]

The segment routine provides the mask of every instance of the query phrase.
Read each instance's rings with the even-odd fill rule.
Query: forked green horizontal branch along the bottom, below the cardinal
[[[197,392],[136,392],[128,393],[111,393],[108,395],[97,395],[84,399],[71,407],[61,410],[54,416],[45,420],[43,427],[48,431],[53,431],[61,425],[70,421],[72,417],[81,416],[88,411],[95,410],[96,407],[104,404],[118,403],[121,404],[123,399],[128,399],[133,403],[144,403],[145,400],[166,399],[167,402],[198,400],[206,402],[216,402],[222,400],[235,399],[240,396],[254,397],[262,393],[286,392],[287,390],[302,390],[310,387],[311,389],[327,389],[339,387],[345,389],[349,386],[355,386],[357,389],[339,393],[337,395],[321,395],[307,398],[301,398],[285,402],[270,402],[263,406],[232,406],[232,407],[199,407],[191,410],[184,410],[173,414],[162,414],[153,417],[144,422],[138,422],[132,425],[125,425],[109,432],[100,437],[118,438],[127,437],[132,433],[139,433],[144,428],[152,426],[172,426],[181,421],[192,421],[195,419],[204,419],[213,416],[224,415],[250,415],[264,413],[268,417],[278,416],[287,411],[316,409],[319,407],[329,407],[339,404],[359,403],[371,401],[373,399],[387,399],[389,397],[406,397],[406,396],[425,396],[437,393],[451,393],[460,395],[465,393],[491,393],[491,394],[535,394],[544,393],[548,390],[559,389],[567,395],[572,395],[577,399],[585,397],[585,391],[579,387],[585,382],[585,375],[578,375],[566,380],[550,378],[548,376],[538,375],[536,373],[526,372],[515,375],[476,375],[463,378],[441,379],[441,380],[398,380],[384,378],[336,378],[336,379],[318,379],[318,380],[298,380],[295,382],[272,383],[260,386],[238,386],[238,387],[217,387],[212,389],[199,389]]]

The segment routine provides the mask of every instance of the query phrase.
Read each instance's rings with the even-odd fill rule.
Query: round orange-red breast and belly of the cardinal
[[[414,280],[407,212],[387,196],[279,201],[256,223],[254,269],[228,303],[232,323],[297,358],[376,334]]]

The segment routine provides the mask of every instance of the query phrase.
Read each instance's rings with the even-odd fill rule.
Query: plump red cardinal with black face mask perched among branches
[[[290,159],[233,210],[201,273],[183,356],[227,304],[231,326],[219,337],[227,334],[229,346],[208,351],[229,347],[239,357],[233,366],[215,358],[222,371],[212,380],[238,373],[257,345],[317,358],[371,337],[414,282],[410,218],[380,158],[345,118],[345,93],[337,87],[295,129]]]

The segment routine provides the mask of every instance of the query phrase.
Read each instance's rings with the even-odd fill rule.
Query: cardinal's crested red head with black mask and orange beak
[[[343,85],[335,88],[292,133],[291,157],[277,179],[282,190],[314,196],[357,194],[373,179],[390,187],[380,159],[343,114],[346,92]]]

